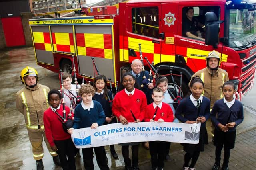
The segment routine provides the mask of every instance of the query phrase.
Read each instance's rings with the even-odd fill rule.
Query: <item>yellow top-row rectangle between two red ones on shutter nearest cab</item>
[[[85,33],[84,37],[86,47],[104,49],[103,34]]]

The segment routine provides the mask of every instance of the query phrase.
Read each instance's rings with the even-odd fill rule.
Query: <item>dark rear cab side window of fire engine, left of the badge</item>
[[[158,38],[158,7],[132,8],[132,33]]]

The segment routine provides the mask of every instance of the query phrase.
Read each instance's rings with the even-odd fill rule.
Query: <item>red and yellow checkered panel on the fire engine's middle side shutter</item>
[[[75,53],[73,33],[52,33],[54,51]]]

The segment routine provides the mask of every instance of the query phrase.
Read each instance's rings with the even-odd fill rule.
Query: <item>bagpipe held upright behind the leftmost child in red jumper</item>
[[[59,120],[61,121],[62,123],[62,127],[64,129],[64,131],[66,133],[68,133],[68,129],[70,127],[73,127],[73,124],[74,124],[74,117],[72,117],[72,104],[73,104],[73,100],[74,100],[74,96],[72,96],[72,101],[71,101],[71,108],[70,108],[70,112],[68,113],[68,116],[66,117],[66,109],[65,109],[65,101],[64,101],[64,86],[63,86],[63,78],[62,78],[62,70],[60,70],[60,82],[61,82],[61,88],[60,88],[60,92],[61,92],[61,95],[62,95],[62,100],[61,100],[61,104],[62,104],[62,107],[63,107],[63,117],[57,112],[54,110],[54,112],[59,116]]]

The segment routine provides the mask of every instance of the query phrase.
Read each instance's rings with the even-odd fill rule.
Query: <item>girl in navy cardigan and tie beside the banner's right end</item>
[[[183,123],[201,123],[200,137],[198,144],[184,143],[183,150],[186,152],[184,155],[183,170],[194,170],[196,161],[198,160],[201,151],[204,151],[204,144],[208,144],[208,135],[206,131],[206,121],[210,117],[210,100],[202,96],[204,90],[204,83],[196,76],[190,82],[190,96],[184,98],[178,105],[175,113]],[[184,117],[182,116],[184,114]],[[192,159],[192,160],[191,160]],[[190,166],[188,165],[191,160]]]

